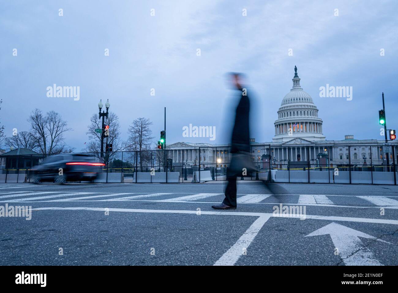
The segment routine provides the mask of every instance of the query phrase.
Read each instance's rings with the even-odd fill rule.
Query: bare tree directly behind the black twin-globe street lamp
[[[104,143],[107,141],[108,144],[112,144],[112,153],[107,154],[104,148],[104,161],[107,161],[116,155],[115,151],[121,151],[125,148],[125,142],[120,138],[119,117],[115,113],[109,112],[108,117],[105,117],[105,123],[109,125],[109,136],[104,138]],[[101,134],[96,132],[96,129],[101,128],[101,119],[98,118],[98,114],[93,114],[86,132],[90,142],[87,143],[83,151],[93,153],[96,157],[101,156]]]

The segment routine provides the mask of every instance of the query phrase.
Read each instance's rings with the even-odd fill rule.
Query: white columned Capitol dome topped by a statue
[[[293,87],[281,102],[278,119],[275,120],[274,142],[287,142],[295,138],[305,140],[325,140],[322,132],[322,119],[311,96],[300,86],[300,78],[295,67]]]

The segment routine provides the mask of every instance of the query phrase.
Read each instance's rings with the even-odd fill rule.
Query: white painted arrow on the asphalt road
[[[335,222],[332,222],[304,237],[325,234],[329,234],[332,238],[333,244],[336,248],[338,248],[339,256],[345,265],[382,265],[380,262],[378,262],[378,260],[373,258],[372,252],[369,250],[369,248],[363,245],[363,242],[359,239],[359,237],[391,244],[390,242],[377,239],[374,236],[348,228]]]

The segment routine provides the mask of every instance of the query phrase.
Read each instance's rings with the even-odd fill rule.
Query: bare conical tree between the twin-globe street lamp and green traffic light
[[[139,151],[138,158],[140,160],[140,168],[142,171],[142,163],[151,160],[151,144],[153,140],[152,130],[150,126],[152,122],[148,118],[137,118],[129,126],[127,140],[127,149],[131,151]]]

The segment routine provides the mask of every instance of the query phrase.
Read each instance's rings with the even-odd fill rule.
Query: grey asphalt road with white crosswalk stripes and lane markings
[[[0,217],[0,265],[398,265],[396,186],[242,182],[213,210],[224,187],[1,184],[32,212]]]

